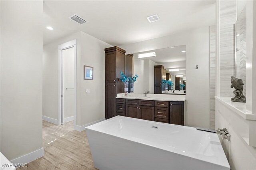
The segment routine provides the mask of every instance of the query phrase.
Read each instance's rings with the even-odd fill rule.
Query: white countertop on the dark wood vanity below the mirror
[[[128,96],[124,96],[124,93],[118,93],[116,98],[154,101],[185,101],[186,95],[147,94],[147,97],[144,97],[144,94],[142,93],[128,93]]]

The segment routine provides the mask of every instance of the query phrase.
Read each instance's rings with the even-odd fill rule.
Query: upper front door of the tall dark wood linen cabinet
[[[116,51],[106,53],[106,83],[116,83]]]

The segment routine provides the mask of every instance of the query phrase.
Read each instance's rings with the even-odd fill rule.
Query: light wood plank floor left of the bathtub
[[[73,121],[54,125],[43,121],[44,156],[18,170],[97,170],[86,132],[74,130]]]

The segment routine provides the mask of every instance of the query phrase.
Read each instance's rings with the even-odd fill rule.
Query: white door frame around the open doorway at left
[[[64,111],[63,111],[63,50],[74,47],[74,129],[76,127],[76,45],[77,41],[72,40],[58,45],[58,123],[64,124]],[[63,111],[63,114],[62,114]],[[62,116],[63,115],[63,116]]]

